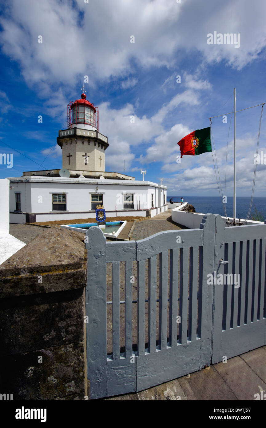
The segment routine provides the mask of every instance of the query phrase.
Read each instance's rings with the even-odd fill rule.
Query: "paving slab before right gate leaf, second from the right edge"
[[[231,358],[227,363],[217,363],[215,369],[238,400],[254,400],[254,394],[266,391],[266,383],[240,357]]]

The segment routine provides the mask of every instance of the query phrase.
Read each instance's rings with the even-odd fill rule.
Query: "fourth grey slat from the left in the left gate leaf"
[[[156,298],[157,298],[157,256],[148,261],[148,349],[156,352]]]

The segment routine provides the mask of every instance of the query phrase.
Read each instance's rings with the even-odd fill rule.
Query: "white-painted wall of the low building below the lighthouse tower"
[[[51,177],[48,181],[45,179],[38,181],[37,178],[31,177],[28,182],[11,183],[11,186],[14,189],[10,191],[10,211],[12,211],[10,221],[14,223],[25,222],[25,215],[14,213],[15,191],[21,192],[21,210],[36,214],[36,221],[94,218],[95,210],[91,205],[92,193],[103,194],[103,206],[108,217],[145,217],[146,210],[151,209],[151,195],[154,195],[154,207],[158,208],[160,193],[157,185],[153,186],[150,182],[144,184],[122,180],[69,179],[67,181]],[[66,211],[53,211],[53,193],[66,194]],[[125,193],[133,194],[133,208],[124,208]],[[160,209],[152,210],[152,215],[159,212]]]

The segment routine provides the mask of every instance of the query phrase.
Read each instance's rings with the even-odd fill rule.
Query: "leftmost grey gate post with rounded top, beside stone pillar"
[[[87,378],[91,398],[107,396],[106,238],[92,226],[85,235],[88,251],[86,286]]]

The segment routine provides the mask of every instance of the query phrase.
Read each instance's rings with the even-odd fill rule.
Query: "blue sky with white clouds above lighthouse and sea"
[[[219,196],[212,154],[177,163],[177,142],[209,126],[210,116],[231,112],[234,87],[237,110],[266,101],[264,0],[252,6],[247,0],[0,4],[0,153],[13,153],[13,168],[0,164],[0,178],[62,167],[56,137],[88,75],[87,99],[98,106],[99,131],[110,144],[106,171],[124,172],[125,163],[136,179],[141,169],[147,180],[162,177],[170,195]],[[208,45],[207,34],[215,31],[239,34],[240,46]],[[239,196],[251,194],[260,111],[237,113]],[[266,154],[265,114],[259,152]],[[230,118],[212,124],[227,196],[233,195],[233,119],[224,191]],[[265,172],[266,165],[257,165],[255,196],[266,196]]]

